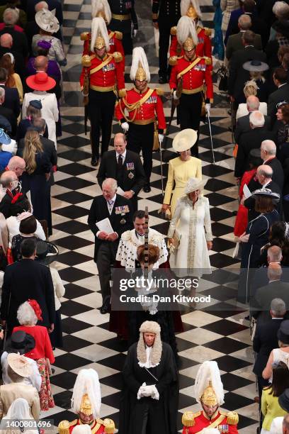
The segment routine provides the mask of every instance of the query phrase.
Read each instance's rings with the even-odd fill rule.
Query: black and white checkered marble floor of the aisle
[[[136,2],[140,32],[136,44],[145,47],[152,70],[152,86],[157,84],[155,35],[150,21],[150,2]],[[212,27],[213,8],[210,0],[203,0],[204,23]],[[74,415],[69,411],[70,398],[77,372],[93,367],[101,381],[101,417],[111,417],[118,426],[118,408],[121,389],[121,369],[127,348],[108,331],[108,315],[101,315],[101,294],[96,265],[93,261],[94,236],[86,221],[94,196],[101,193],[96,183],[97,170],[90,165],[89,135],[84,134],[84,109],[79,92],[82,43],[79,34],[89,30],[91,23],[90,0],[64,0],[64,43],[67,45],[68,65],[64,68],[64,96],[62,106],[63,135],[58,141],[59,171],[52,187],[52,218],[54,240],[60,247],[55,266],[60,271],[66,287],[62,301],[64,347],[55,351],[55,374],[51,377],[56,407],[43,413],[53,418],[55,425]],[[126,62],[130,65],[130,59]],[[126,67],[126,73],[129,67]],[[128,75],[126,81],[129,82]],[[164,86],[169,91],[168,85]],[[165,104],[169,117],[169,101]],[[200,128],[200,159],[203,176],[208,182],[205,194],[210,199],[212,231],[214,235],[210,260],[213,267],[232,269],[238,267],[232,259],[234,237],[232,227],[237,210],[237,187],[232,169],[231,134],[228,131],[227,101],[224,96],[215,97],[211,112],[214,135],[215,160],[212,165],[208,126]],[[115,123],[113,132],[120,127]],[[179,128],[173,121],[164,151],[164,161],[174,157],[171,141]],[[162,203],[159,154],[154,155],[152,191],[140,193],[139,208],[149,207],[150,226],[166,233],[168,223],[159,218],[157,210]],[[167,167],[164,165],[164,174]],[[253,352],[245,311],[232,311],[230,299],[236,293],[236,282],[226,282],[222,276],[203,282],[205,291],[213,297],[212,311],[191,310],[183,313],[185,331],[177,336],[180,367],[179,428],[181,413],[188,408],[199,409],[193,398],[196,372],[204,360],[217,360],[225,387],[224,408],[236,410],[240,416],[239,433],[256,433],[258,420],[254,375],[251,373]]]

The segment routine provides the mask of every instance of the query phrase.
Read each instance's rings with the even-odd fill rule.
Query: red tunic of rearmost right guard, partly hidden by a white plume
[[[212,43],[210,41],[207,33],[209,29],[198,27],[198,45],[196,46],[196,55],[198,57],[208,57],[210,60],[210,70],[212,70]],[[172,56],[183,56],[185,52],[183,47],[178,43],[176,38],[176,27],[171,28],[171,46],[169,48],[169,55]],[[209,65],[209,64],[208,64]]]

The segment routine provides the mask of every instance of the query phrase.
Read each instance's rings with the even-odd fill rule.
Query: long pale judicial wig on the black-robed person
[[[154,333],[156,335],[154,345],[152,346],[151,362],[152,365],[159,365],[162,357],[161,328],[155,321],[145,321],[140,326],[140,339],[137,343],[137,360],[140,363],[147,362],[144,333]]]

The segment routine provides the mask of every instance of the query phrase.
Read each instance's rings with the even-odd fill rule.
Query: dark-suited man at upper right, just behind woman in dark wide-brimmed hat
[[[253,46],[254,37],[255,34],[251,30],[246,30],[242,35],[243,50],[235,51],[229,62],[228,94],[231,96],[231,101],[236,101],[234,104],[236,109],[244,98],[244,84],[250,79],[249,71],[243,68],[244,63],[249,60],[266,62],[266,54]]]

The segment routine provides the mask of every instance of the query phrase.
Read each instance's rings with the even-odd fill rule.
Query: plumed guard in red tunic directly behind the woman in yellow
[[[196,29],[188,17],[180,19],[178,35],[185,54],[176,60],[169,85],[174,93],[175,104],[179,104],[181,130],[192,128],[198,131],[203,102],[205,110],[210,113],[212,75],[204,57],[196,55]],[[198,157],[197,145],[191,148],[191,154]]]

